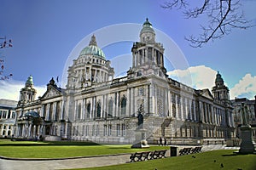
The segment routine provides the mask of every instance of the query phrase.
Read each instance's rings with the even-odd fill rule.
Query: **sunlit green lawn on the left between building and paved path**
[[[131,145],[99,145],[88,142],[27,142],[0,140],[0,156],[12,158],[66,158],[133,153],[143,150],[169,149],[152,146],[149,149],[131,149]]]

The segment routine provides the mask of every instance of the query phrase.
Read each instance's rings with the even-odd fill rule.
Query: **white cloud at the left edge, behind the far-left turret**
[[[10,80],[0,80],[0,99],[13,99],[18,101],[20,98],[20,89],[25,87],[25,82]],[[46,92],[46,86],[35,86],[37,97]]]

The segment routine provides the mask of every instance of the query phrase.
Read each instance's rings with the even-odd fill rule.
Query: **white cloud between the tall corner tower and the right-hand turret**
[[[211,89],[214,86],[217,71],[205,65],[191,66],[186,70],[169,71],[167,74],[178,82],[183,82],[192,88]]]

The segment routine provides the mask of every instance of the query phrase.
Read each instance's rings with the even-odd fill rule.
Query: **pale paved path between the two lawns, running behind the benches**
[[[208,150],[238,150],[237,147],[224,147],[220,144],[204,145],[202,151]],[[109,165],[124,164],[130,161],[131,154],[119,156],[98,156],[79,159],[51,160],[51,161],[20,161],[0,159],[0,170],[53,170],[82,167],[102,167]],[[170,156],[170,151],[166,152]]]

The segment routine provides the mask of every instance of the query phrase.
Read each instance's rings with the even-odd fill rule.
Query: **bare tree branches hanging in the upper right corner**
[[[201,26],[202,33],[195,37],[185,37],[190,46],[198,48],[203,44],[224,37],[234,28],[247,29],[252,26],[241,9],[240,0],[202,0],[201,6],[191,8],[186,0],[171,0],[162,5],[162,8],[177,8],[183,11],[186,19],[198,18],[207,15],[208,25]]]

